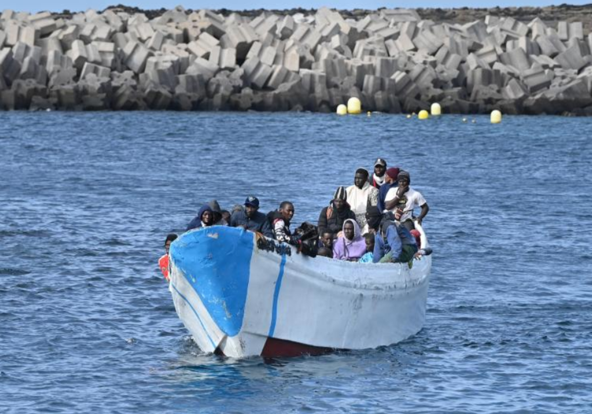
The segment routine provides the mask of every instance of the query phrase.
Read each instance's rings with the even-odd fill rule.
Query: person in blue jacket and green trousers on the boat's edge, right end
[[[403,207],[395,210],[395,221],[385,220],[381,232],[375,236],[374,263],[405,263],[417,253],[415,238],[400,222]]]

